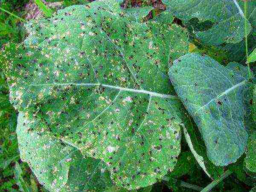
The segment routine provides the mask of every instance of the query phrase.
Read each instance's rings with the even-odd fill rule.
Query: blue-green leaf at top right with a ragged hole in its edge
[[[204,43],[238,43],[250,33],[250,23],[236,0],[163,0],[163,3],[168,12],[185,22],[197,17],[201,22],[215,23],[207,31],[195,32]]]

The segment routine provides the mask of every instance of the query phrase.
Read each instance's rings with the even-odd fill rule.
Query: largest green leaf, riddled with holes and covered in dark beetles
[[[103,160],[127,189],[173,169],[183,106],[171,95],[168,68],[187,52],[184,29],[137,23],[117,1],[97,1],[35,20],[27,31],[1,57],[10,99],[40,121],[37,131]]]

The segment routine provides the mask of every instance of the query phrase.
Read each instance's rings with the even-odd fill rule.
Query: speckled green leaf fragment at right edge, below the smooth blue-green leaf
[[[256,131],[252,131],[248,139],[244,163],[249,171],[256,172]]]

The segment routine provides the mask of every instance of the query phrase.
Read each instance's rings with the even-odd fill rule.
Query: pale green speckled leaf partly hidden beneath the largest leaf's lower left
[[[38,181],[46,189],[103,191],[112,185],[104,163],[90,157],[82,157],[77,148],[61,140],[31,131],[35,126],[40,124],[29,121],[23,113],[19,113],[17,137],[20,157],[29,164]]]

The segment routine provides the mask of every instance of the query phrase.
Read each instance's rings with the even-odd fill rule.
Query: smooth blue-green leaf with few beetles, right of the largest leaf
[[[208,56],[187,54],[170,68],[175,90],[202,134],[209,159],[218,166],[244,152],[244,91],[247,79]]]

